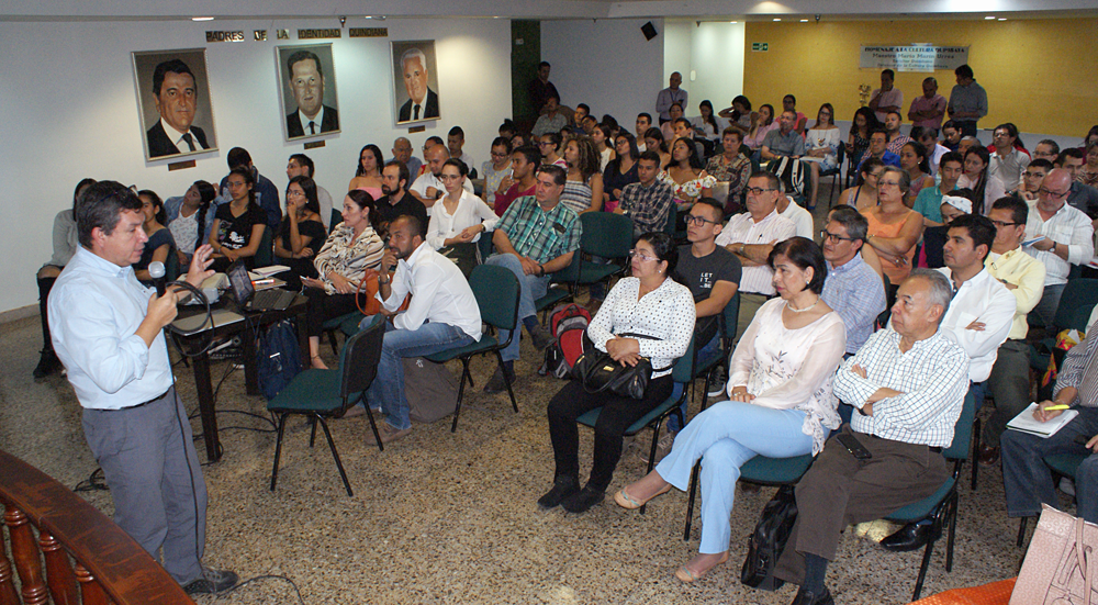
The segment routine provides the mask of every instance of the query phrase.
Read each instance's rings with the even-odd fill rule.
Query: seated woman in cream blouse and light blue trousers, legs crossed
[[[774,246],[768,264],[781,298],[759,309],[736,346],[730,401],[695,416],[656,470],[614,496],[625,508],[639,508],[672,486],[685,491],[702,458],[702,544],[699,554],[675,572],[683,582],[728,560],[740,467],[755,456],[816,453],[839,426],[831,377],[842,361],[847,330],[820,300],[824,253],[810,239],[792,237]]]

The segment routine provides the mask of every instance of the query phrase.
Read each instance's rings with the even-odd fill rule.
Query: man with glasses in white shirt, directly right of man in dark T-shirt
[[[782,191],[781,181],[773,172],[752,175],[744,192],[748,211],[732,216],[717,236],[717,245],[728,248],[743,266],[737,339],[751,324],[762,303],[775,294],[771,282],[774,272],[766,265],[774,244],[797,234],[793,221],[777,213],[777,199],[782,197]]]

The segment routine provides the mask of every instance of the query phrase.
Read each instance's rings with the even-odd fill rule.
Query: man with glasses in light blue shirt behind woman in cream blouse
[[[865,216],[844,205],[830,213],[820,232],[827,260],[827,281],[820,299],[847,326],[847,355],[862,348],[885,310],[881,276],[859,254],[864,249],[869,228]]]

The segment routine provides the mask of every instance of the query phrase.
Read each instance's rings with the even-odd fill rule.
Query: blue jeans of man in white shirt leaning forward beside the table
[[[362,325],[370,325],[372,316],[362,322]],[[385,322],[385,339],[381,345],[378,377],[366,391],[367,404],[374,408],[381,407],[385,422],[393,428],[403,430],[411,427],[408,400],[404,396],[403,359],[423,357],[472,341],[472,336],[449,324],[425,323],[418,329],[400,329]]]

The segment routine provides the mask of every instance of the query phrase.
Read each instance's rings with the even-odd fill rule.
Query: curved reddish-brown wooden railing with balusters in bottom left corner
[[[0,540],[0,605],[51,600],[56,605],[194,603],[111,519],[49,475],[2,450],[0,504],[12,554],[9,559]],[[12,561],[19,573],[18,590]]]

